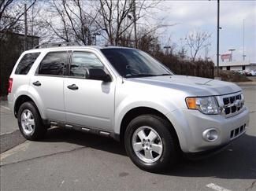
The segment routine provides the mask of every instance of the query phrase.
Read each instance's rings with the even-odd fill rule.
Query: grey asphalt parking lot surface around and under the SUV
[[[256,86],[242,88],[247,134],[215,156],[181,160],[165,174],[139,170],[109,138],[53,128],[43,141],[25,141],[2,101],[1,190],[256,190]]]

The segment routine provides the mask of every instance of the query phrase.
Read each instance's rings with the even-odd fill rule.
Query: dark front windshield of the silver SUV
[[[101,51],[113,68],[125,78],[173,75],[168,68],[141,50],[109,48]]]

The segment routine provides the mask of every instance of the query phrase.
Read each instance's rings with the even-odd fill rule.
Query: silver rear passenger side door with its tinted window
[[[65,122],[63,83],[68,57],[67,51],[46,53],[32,76],[30,86],[43,106],[46,119]]]

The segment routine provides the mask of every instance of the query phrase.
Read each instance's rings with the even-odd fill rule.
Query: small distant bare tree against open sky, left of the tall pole
[[[186,42],[191,53],[192,61],[195,61],[199,50],[202,50],[206,46],[210,46],[211,35],[205,31],[193,31],[190,35],[187,35]]]

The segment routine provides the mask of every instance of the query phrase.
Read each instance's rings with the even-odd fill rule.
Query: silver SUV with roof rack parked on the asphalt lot
[[[163,171],[180,153],[213,152],[244,134],[239,86],[174,75],[140,50],[39,47],[21,54],[9,78],[9,107],[28,140],[51,125],[124,141],[135,165]]]

